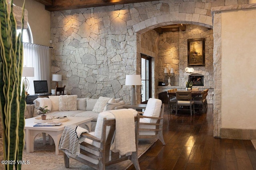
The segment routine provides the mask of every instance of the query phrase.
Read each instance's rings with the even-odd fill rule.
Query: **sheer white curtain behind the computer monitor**
[[[23,43],[23,66],[34,67],[34,77],[27,77],[29,81],[28,94],[35,94],[34,80],[47,80],[50,85],[50,51],[49,47],[31,43]],[[25,77],[22,77],[22,80]]]

